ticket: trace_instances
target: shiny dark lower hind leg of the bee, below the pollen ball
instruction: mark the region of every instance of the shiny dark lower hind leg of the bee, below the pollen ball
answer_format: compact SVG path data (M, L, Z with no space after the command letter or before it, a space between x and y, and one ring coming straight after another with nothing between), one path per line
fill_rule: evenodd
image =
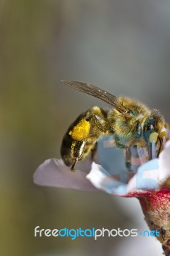
M86 146L86 140L81 141L74 141L72 143L72 167L70 168L71 172L75 172L75 164L79 161L79 159L82 157L82 153L84 152L84 148Z

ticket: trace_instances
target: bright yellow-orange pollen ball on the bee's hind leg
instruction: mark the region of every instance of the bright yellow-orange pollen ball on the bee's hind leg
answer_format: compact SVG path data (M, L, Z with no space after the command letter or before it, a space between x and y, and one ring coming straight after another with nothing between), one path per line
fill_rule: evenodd
M86 138L89 134L89 122L86 120L82 120L73 127L72 131L69 132L69 135L72 136L73 140L81 141Z

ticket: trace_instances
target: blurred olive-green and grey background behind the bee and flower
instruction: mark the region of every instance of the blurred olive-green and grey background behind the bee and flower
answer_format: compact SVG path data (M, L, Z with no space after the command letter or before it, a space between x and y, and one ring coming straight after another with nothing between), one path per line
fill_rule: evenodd
M0 1L0 254L161 255L156 239L34 237L34 228L141 228L135 198L43 188L33 173L59 156L68 125L107 106L61 84L85 81L169 117L170 3Z

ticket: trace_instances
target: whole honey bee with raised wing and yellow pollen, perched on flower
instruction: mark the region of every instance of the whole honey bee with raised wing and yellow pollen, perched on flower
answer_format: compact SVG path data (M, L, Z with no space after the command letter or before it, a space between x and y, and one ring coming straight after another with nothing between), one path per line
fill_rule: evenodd
M93 84L78 81L61 81L75 90L87 93L107 102L112 109L93 106L86 109L70 125L61 145L61 157L66 166L75 172L75 164L87 156L93 157L100 136L114 136L116 147L125 150L125 165L131 167L132 145L124 141L139 141L143 138L149 148L157 146L157 157L162 148L164 118L157 109L149 109L143 103L128 97L116 97Z

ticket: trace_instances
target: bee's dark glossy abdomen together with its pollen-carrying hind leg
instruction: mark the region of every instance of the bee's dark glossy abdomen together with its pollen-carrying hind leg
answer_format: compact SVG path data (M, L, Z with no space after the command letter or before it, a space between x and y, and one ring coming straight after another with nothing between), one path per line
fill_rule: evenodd
M108 110L95 106L70 125L61 145L61 157L67 166L74 166L80 159L93 155L98 137L105 131L107 113Z

